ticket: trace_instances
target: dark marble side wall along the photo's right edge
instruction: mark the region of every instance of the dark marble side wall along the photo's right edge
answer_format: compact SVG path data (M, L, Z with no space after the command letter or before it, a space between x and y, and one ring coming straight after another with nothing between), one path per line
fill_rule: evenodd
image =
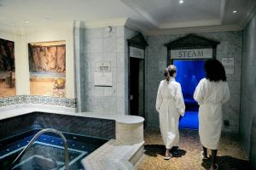
M253 157L256 168L256 15L244 29L242 42L240 135L247 156Z

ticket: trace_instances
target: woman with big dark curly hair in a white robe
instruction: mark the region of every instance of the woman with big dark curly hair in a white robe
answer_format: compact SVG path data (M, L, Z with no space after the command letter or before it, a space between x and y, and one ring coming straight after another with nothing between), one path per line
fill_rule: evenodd
M224 66L217 59L209 59L205 64L206 78L195 88L194 99L199 106L199 136L207 159L207 149L212 150L211 169L218 169L216 156L222 129L222 105L230 99L230 88L226 82Z

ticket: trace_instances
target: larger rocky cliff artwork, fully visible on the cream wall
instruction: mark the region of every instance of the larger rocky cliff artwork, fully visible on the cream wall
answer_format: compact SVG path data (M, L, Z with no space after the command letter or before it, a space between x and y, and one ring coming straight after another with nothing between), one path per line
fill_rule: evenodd
M28 43L30 94L66 97L66 42Z

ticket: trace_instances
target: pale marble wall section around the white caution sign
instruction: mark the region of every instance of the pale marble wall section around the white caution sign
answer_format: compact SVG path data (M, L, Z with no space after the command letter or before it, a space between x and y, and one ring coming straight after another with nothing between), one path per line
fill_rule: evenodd
M125 113L125 27L75 28L79 111ZM96 61L110 61L112 87L94 83Z

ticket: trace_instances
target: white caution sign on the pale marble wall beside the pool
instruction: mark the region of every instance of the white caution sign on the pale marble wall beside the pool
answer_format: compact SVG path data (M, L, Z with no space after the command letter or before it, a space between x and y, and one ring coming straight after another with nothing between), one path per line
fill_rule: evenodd
M96 61L95 86L112 86L111 61Z

